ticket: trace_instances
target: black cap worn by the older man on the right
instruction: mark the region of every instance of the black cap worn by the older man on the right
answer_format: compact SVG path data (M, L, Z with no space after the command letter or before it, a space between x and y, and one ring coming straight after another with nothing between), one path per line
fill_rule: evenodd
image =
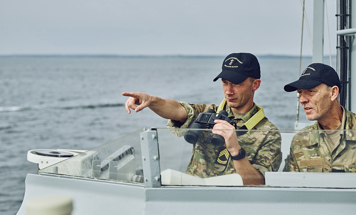
M339 76L333 67L321 63L314 63L310 64L304 70L298 81L284 86L284 90L292 92L297 90L297 88L310 89L322 83L331 87L337 86L339 87L339 90L341 89Z

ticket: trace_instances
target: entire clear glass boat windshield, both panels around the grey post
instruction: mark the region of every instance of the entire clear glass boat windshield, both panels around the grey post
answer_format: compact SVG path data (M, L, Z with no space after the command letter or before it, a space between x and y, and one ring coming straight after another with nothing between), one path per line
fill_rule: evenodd
M142 141L142 132L140 129L41 169L39 173L145 184L145 178L152 177L146 174L151 171L150 168L156 167L142 165L145 162L142 160L148 156L145 155L145 158L145 153L141 151L146 150L147 144ZM152 156L159 161L160 175L156 178L161 179L161 186L246 184L236 173L224 138L213 134L211 129L155 128L150 132L157 135L151 140L155 144L150 144L150 147L156 147L159 153ZM356 130L221 132L237 133L237 141L245 149L247 159L265 177L265 186L356 187ZM293 153L287 158L291 146ZM290 172L283 172L283 169Z

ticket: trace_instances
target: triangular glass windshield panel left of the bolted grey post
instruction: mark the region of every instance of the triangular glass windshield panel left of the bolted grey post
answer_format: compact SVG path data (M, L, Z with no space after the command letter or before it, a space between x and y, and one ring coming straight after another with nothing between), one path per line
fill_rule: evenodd
M143 129L39 170L43 173L143 183Z

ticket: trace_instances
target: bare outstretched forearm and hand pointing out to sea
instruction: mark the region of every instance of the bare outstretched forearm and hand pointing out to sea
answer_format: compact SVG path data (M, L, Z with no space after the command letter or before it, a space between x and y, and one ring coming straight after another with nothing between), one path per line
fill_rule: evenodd
M182 123L187 120L187 111L176 100L162 99L141 92L124 92L122 95L129 97L125 103L126 111L129 114L131 113L130 108L138 112L148 107L163 118L180 121Z

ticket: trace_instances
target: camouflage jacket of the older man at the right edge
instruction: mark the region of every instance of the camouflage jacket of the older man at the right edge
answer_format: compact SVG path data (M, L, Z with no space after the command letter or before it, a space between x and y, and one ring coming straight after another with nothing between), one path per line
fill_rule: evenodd
M345 111L345 131L332 153L325 144L325 133L318 132L318 122L315 122L293 137L283 171L356 172L356 118L351 111Z

